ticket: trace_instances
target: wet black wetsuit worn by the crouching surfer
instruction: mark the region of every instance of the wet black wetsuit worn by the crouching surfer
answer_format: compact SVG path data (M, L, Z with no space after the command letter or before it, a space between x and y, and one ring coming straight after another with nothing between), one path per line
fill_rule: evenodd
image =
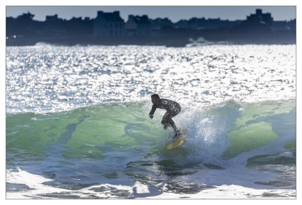
M173 129L175 130L175 133L178 132L178 129L174 123L174 121L172 120L172 117L175 117L181 110L180 105L173 101L173 100L168 100L168 99L164 99L161 98L159 104L157 105L152 105L152 109L149 113L149 115L153 115L156 108L160 108L160 109L165 109L167 112L164 114L163 119L162 119L162 124L168 123L170 124Z

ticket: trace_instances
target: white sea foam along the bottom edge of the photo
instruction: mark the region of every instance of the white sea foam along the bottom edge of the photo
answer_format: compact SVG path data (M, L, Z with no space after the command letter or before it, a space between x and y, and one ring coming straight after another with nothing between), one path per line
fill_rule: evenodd
M9 183L18 183L25 184L29 186L30 189L27 191L19 191L19 192L7 192L8 199L14 198L56 198L54 194L51 196L47 196L47 194L58 193L58 197L60 193L64 193L65 195L69 195L70 198L73 196L80 196L81 198L91 198L91 197L101 197L101 198L114 198L116 197L110 191L96 192L93 188L98 187L114 187L117 190L126 190L129 191L130 194L133 194L133 189L136 188L136 193L138 194L147 194L150 193L148 186L145 184L141 184L139 182L135 182L133 186L125 186L125 185L114 185L114 184L99 184L94 186L89 186L80 190L67 190L62 188L51 187L42 184L46 181L51 181L52 179L47 179L45 177L30 174L26 171L18 169L17 172L12 170L7 170L7 182ZM166 184L165 184L166 185ZM164 185L164 187L165 187ZM164 188L163 188L164 189ZM254 189L248 188L239 185L220 185L212 189L202 190L196 194L177 194L170 192L163 192L158 195L153 196L145 196L144 198L295 198L296 191L293 189ZM139 197L137 197L139 198Z

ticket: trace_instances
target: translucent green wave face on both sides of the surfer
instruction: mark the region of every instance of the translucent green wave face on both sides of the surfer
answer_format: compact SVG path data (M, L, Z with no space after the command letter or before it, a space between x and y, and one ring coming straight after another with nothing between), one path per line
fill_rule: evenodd
M228 148L222 157L230 159L240 153L268 145L280 135L294 135L294 140L282 145L292 148L295 143L295 101L262 102L237 104L227 102L224 109L209 107L202 110L204 116L222 120L227 110L239 110L234 121L225 127ZM142 149L149 155L164 153L163 139L169 136L160 124L162 112L157 111L154 119L148 117L149 107L145 103L103 104L83 107L69 112L50 114L13 114L7 116L7 152L27 153L32 159L44 157L51 145L64 149L65 159L96 158L102 159L107 151L119 149ZM232 111L233 112L233 111ZM182 116L182 117L181 117ZM180 114L179 123L194 127L199 119ZM177 117L176 117L177 118ZM197 122L196 122L197 121ZM193 124L193 125L192 125ZM189 146L195 146L194 138L204 136L190 132L187 146L180 148L179 154L187 155ZM218 139L219 140L219 139ZM203 148L203 144L199 144Z

